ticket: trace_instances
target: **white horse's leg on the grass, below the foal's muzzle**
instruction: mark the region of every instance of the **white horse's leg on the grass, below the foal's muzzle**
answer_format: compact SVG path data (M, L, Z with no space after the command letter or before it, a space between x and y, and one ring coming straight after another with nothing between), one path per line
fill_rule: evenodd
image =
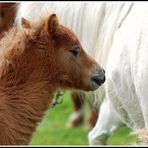
M89 144L106 144L107 138L122 125L123 122L119 119L110 100L106 97L100 108L98 121L88 134Z

